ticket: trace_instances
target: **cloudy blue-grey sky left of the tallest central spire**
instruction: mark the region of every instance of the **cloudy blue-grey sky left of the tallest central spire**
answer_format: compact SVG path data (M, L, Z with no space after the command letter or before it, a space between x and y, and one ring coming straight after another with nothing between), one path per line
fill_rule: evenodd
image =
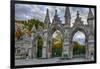
M27 5L27 4L15 5L15 18L16 20L27 20L27 19L35 18L35 19L39 19L40 21L44 21L47 8L49 9L51 21L54 17L55 9L58 10L58 15L61 18L61 20L64 19L63 18L64 7L46 6L46 5Z

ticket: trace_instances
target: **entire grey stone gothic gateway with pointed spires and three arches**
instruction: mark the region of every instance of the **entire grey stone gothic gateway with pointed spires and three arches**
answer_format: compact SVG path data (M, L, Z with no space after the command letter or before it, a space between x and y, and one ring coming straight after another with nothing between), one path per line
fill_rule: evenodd
M60 17L57 14L57 10L55 10L55 15L54 15L54 18L53 18L52 23L51 23L50 17L49 17L49 9L47 9L44 23L46 23L48 25L48 28L42 29L41 31L36 31L36 29L34 27L32 28L32 29L34 29L34 31L33 31L34 36L32 36L32 38L33 38L33 42L32 42L33 48L36 49L36 44L35 44L36 39L35 38L37 36L41 36L44 40L44 46L43 46L43 52L44 53L43 53L42 58L51 58L51 46L52 46L51 37L52 37L52 34L56 30L59 30L63 35L63 39L62 39L62 42L63 42L62 43L62 49L63 49L63 51L62 51L61 57L63 57L63 54L66 53L66 54L68 54L69 58L73 58L72 38L77 31L81 31L86 36L86 58L90 58L89 41L94 40L94 39L90 39L90 37L89 37L89 36L94 37L94 35L91 34L91 33L94 33L92 31L93 30L92 29L93 23L94 23L93 22L94 16L92 14L91 9L89 9L89 13L88 13L88 17L87 17L88 25L83 24L83 21L82 21L82 18L80 17L79 11L77 11L75 22L74 22L73 26L71 27L70 26L71 14L70 14L70 8L69 7L66 7L64 17L65 17L65 24L62 24ZM66 49L66 50L64 50L64 49ZM34 54L32 53L33 57L36 54L35 51L36 50L34 50Z

